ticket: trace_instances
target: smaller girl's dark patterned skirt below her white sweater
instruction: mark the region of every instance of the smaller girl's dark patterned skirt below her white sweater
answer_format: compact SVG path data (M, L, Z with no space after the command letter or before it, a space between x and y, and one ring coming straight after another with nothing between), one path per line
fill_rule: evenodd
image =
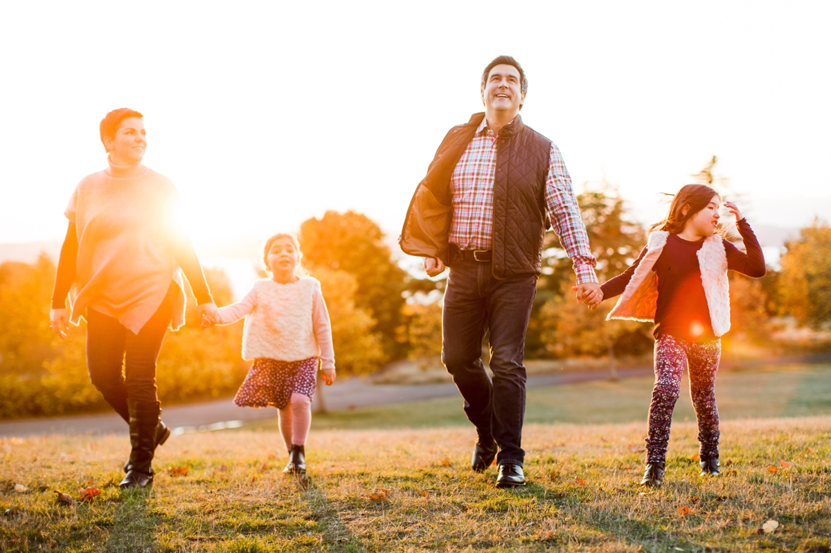
M317 357L302 361L255 359L234 404L238 407L276 407L286 409L292 394L314 395Z

